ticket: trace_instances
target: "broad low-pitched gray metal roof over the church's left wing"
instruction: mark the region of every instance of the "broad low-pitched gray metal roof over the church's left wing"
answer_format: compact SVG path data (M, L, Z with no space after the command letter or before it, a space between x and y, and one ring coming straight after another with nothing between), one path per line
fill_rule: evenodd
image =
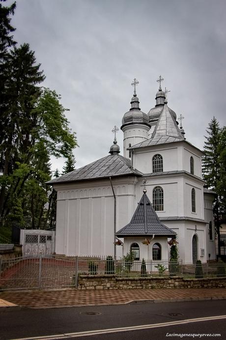
M119 154L112 154L101 158L93 163L80 169L71 171L60 177L54 178L47 184L65 183L81 181L87 179L97 179L110 176L137 175L141 176L142 172L131 169L131 161Z

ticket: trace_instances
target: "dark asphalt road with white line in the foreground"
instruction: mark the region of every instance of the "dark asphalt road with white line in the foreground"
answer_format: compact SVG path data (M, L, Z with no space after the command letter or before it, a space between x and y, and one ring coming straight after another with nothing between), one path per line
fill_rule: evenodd
M226 315L225 300L48 309L1 308L0 339L42 337L43 340L48 339L49 336L52 336L53 340L182 339L175 335L170 336L173 333L221 334L221 337L183 336L183 339L226 339L226 318L209 318L191 322L191 319L220 315ZM181 322L183 324L180 324ZM136 328L139 326L140 329ZM129 329L121 329L123 327ZM106 329L110 331L97 333L97 330ZM78 334L87 331L90 333L85 333L83 336Z

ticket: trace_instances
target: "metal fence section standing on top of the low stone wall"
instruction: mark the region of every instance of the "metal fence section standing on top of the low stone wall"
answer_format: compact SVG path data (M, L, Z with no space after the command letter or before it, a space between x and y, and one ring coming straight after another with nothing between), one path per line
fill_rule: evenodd
M184 263L179 261L114 261L112 257L78 258L79 274L116 274L117 277L183 276L185 278L224 277L226 263Z

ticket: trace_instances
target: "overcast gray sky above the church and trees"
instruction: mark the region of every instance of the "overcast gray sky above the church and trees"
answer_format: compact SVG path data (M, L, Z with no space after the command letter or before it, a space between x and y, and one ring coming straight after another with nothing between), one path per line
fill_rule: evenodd
M12 25L17 42L35 51L43 86L70 109L77 169L108 155L134 78L147 113L162 75L168 105L198 148L213 116L226 125L225 0L17 0ZM123 155L121 130L117 140ZM63 164L52 159L53 170Z

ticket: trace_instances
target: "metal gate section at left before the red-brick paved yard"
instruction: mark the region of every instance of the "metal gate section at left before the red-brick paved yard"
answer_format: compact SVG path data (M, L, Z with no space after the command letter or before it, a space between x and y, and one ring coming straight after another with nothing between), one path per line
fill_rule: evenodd
M76 264L42 254L0 259L0 290L76 286Z

